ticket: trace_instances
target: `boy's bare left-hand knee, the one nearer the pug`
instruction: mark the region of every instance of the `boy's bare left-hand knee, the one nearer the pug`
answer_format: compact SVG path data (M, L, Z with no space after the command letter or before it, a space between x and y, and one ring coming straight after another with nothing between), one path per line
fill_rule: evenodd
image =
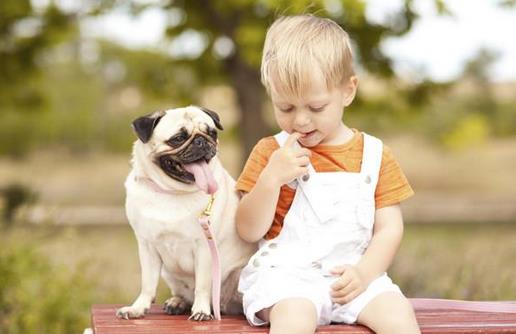
M317 310L308 299L292 298L274 305L270 312L271 333L314 333Z

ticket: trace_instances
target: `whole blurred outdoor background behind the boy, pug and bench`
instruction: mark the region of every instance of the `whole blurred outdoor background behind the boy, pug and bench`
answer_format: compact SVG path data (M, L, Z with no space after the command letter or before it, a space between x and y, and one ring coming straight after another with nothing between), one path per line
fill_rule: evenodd
M329 17L354 41L347 125L416 196L391 275L409 297L516 299L516 1L0 1L0 333L72 333L139 292L125 218L131 121L197 104L236 178L275 133L266 27ZM158 302L168 296L160 285Z

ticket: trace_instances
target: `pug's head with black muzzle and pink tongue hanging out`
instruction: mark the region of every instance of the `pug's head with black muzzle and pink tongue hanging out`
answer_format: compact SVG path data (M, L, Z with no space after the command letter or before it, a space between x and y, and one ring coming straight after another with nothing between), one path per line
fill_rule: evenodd
M217 190L208 167L217 154L217 130L223 129L217 113L196 106L157 111L137 118L133 129L168 177L206 193Z

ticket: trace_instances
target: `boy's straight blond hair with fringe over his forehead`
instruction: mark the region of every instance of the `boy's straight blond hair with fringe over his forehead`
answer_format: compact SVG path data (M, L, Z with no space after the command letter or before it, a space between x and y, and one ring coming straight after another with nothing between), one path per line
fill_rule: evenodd
M349 44L348 34L330 19L313 15L280 17L265 37L262 83L269 94L274 88L300 96L313 82L314 71L319 71L327 87L334 88L354 75Z

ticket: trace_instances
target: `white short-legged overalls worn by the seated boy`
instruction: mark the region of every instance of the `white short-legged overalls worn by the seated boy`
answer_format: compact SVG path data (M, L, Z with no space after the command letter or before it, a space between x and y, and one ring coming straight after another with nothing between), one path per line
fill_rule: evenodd
M287 137L281 132L275 139L283 146ZM293 297L308 298L315 304L318 325L351 324L380 293L400 292L384 273L348 304L333 303L330 297L330 285L338 277L329 271L338 265L357 264L371 240L382 149L379 139L364 133L359 173L316 173L310 165L310 178L297 179L280 234L260 241L258 252L240 276L238 290L251 324L265 324L256 316L258 311Z

